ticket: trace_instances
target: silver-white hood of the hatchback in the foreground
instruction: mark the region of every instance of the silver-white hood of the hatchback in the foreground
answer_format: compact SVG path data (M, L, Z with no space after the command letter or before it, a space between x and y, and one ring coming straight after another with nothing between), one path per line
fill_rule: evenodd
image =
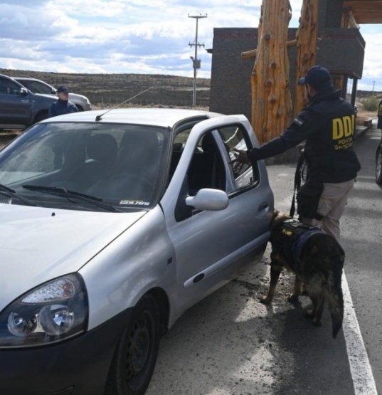
M79 270L145 213L0 204L0 311L31 288Z

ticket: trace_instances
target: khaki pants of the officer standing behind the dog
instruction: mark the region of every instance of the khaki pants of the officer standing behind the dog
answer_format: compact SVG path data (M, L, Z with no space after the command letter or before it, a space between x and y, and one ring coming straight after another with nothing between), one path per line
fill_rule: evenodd
M302 218L307 225L316 226L324 232L334 236L337 241L340 238L339 218L344 213L348 201L349 192L354 186L354 179L339 184L324 183L324 190L319 199L317 213L324 218L321 221L314 218Z

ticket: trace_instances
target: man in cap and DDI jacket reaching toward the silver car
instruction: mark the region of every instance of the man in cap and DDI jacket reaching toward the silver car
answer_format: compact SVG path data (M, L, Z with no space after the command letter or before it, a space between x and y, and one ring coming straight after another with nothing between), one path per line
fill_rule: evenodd
M339 219L361 169L353 147L354 107L341 98L341 91L331 83L329 71L320 65L310 68L298 83L304 85L309 99L307 106L280 137L262 144L260 148L238 151L237 159L255 163L306 140L304 160L308 179L301 192L308 184L319 185L322 192L317 197L315 213L309 215L299 211L298 192L297 212L304 223L322 228L339 240Z

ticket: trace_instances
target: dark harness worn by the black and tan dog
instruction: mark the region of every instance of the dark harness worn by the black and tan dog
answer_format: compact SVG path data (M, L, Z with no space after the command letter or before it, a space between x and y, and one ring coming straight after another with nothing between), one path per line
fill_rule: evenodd
M322 233L322 231L314 226L299 222L297 219L291 218L282 221L280 250L292 269L295 269L294 266L302 246L314 233Z

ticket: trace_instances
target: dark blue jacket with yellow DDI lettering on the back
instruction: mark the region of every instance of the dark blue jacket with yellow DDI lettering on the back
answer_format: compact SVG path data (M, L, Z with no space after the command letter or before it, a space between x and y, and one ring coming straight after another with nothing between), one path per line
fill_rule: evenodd
M361 164L354 151L354 107L331 88L314 95L285 132L248 152L251 162L285 152L305 142L312 181L340 183L355 179Z

